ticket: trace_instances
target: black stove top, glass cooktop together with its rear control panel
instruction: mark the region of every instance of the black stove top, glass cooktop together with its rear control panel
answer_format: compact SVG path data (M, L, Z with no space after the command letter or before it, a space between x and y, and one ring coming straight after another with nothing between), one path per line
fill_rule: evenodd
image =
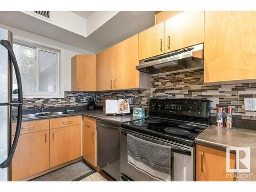
M151 99L149 117L121 127L176 143L194 146L195 137L209 125L209 100Z

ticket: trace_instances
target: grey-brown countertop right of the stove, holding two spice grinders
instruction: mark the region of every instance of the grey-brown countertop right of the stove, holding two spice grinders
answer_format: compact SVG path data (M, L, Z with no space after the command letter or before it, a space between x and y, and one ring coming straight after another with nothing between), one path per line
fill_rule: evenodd
M235 181L255 181L256 180L256 130L237 129L222 130L213 126L207 127L195 139L196 144L217 148L226 151L226 147L250 147L250 173L248 177L238 176ZM239 153L240 158L244 158L244 153ZM245 173L246 174L246 173Z

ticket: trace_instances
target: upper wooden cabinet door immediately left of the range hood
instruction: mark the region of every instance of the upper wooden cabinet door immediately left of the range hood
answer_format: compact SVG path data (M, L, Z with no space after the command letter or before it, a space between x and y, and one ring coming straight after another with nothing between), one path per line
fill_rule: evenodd
M139 88L139 35L114 46L114 89Z

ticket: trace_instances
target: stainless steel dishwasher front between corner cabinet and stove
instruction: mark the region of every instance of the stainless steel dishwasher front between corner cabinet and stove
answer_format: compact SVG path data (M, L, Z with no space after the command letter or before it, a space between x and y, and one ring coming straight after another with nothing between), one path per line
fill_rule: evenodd
M97 164L120 181L120 124L97 120Z

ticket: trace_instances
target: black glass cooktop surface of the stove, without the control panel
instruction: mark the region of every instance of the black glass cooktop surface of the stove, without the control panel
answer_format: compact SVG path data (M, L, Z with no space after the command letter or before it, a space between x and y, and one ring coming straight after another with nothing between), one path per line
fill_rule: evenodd
M148 117L123 123L122 127L131 131L139 131L158 138L193 146L195 137L203 131L207 125Z

